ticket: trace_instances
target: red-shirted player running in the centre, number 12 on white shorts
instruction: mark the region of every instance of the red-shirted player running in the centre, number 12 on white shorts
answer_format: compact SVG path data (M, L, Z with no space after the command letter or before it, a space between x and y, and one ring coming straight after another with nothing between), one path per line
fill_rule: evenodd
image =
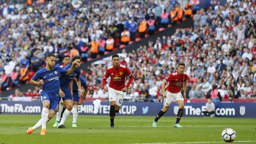
M107 68L103 77L104 91L108 91L108 98L110 101L110 127L114 128L114 117L119 113L121 104L123 102L124 93L127 92L129 85L133 81L133 75L130 70L120 65L119 55L112 56L112 66ZM110 76L109 88L106 86L106 80ZM126 76L129 77L128 83L125 85Z

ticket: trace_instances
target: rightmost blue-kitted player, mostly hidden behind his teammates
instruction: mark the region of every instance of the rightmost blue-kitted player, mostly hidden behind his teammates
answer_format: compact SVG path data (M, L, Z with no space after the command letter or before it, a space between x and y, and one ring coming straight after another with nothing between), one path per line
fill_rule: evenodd
M85 97L87 95L88 92L88 85L87 82L85 81L84 76L80 75L79 76L80 81L81 81L81 86L84 88L84 92L80 94L80 92L78 91L78 85L76 84L77 79L73 79L73 89L71 89L71 91L73 92L73 109L72 109L72 113L73 113L73 121L72 121L72 127L77 127L76 126L76 120L78 117L78 105L81 105L84 100ZM81 97L82 95L82 97Z

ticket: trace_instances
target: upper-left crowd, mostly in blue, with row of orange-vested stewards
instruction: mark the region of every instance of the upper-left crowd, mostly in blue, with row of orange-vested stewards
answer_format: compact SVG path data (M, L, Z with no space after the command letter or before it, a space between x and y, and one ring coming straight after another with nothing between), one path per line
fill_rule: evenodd
M17 2L2 1L0 9L1 90L27 83L45 65L48 53L57 55L58 64L65 55L80 55L86 62L145 37L147 29L153 34L170 23L166 16L177 4L176 0Z

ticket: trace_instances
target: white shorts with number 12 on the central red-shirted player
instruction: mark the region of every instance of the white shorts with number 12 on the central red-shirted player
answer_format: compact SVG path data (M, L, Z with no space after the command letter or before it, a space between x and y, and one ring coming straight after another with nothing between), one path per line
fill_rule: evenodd
M116 105L121 106L123 103L123 96L124 96L123 91L118 91L116 89L108 87L108 100L109 101L116 101Z

